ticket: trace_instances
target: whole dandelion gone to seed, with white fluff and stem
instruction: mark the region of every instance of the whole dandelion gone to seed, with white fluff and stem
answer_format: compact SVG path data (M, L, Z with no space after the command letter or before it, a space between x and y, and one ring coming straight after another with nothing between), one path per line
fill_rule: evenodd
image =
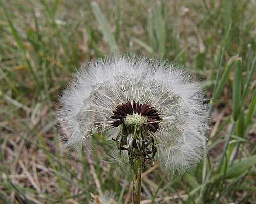
M173 64L134 56L98 60L77 73L60 100L66 145L90 150L96 132L111 140L115 160L133 170L132 203L140 203L143 167L158 161L163 171L181 174L203 157L205 99L200 84Z

